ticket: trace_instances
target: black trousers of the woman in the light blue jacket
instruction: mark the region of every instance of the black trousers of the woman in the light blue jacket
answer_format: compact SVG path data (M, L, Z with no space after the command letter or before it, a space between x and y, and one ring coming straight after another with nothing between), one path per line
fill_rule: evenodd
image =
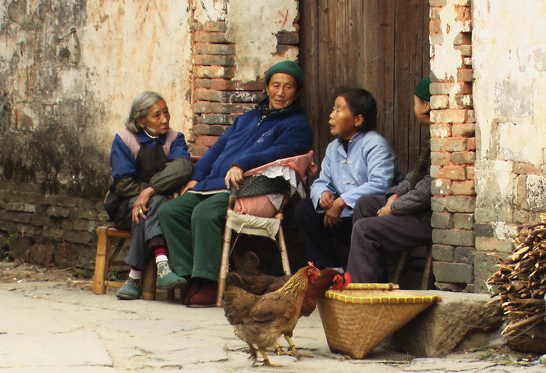
M344 255L336 251L333 239L350 244L350 230L353 218L344 217L339 226L324 226L324 213L317 213L310 198L304 198L295 206L297 226L304 242L307 259L317 267L347 266Z

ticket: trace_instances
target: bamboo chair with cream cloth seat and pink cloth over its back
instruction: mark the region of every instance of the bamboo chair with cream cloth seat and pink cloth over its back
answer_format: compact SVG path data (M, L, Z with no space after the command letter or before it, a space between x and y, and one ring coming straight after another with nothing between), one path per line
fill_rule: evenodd
M291 173L291 185L295 182L300 182L300 194L304 193L302 184L306 181L306 175L312 175L315 173L317 167L313 162L313 151L291 158L284 158L277 160L269 164L265 164L262 167L253 169L244 173L244 176L255 175L263 173L265 170L271 170L271 167L288 167L288 172ZM287 171L287 169L284 169ZM284 173L286 175L286 172ZM286 176L288 177L288 176ZM297 181L295 181L297 179ZM259 209L261 215L253 215L252 208L249 211L245 211L244 204L240 199L230 196L228 202L228 209L226 215L226 225L224 228L224 243L222 245L222 262L220 264L220 273L218 273L218 296L216 298L216 306L222 306L222 295L226 287L227 273L229 272L229 257L235 248L235 242L231 244L232 231L236 231L238 235L240 233L249 235L261 235L263 237L269 237L277 244L280 251L282 269L285 275L291 275L290 263L288 262L288 251L286 250L286 242L284 241L284 233L282 230L283 210L291 195L295 193L295 189L289 189L282 197L282 202L278 209L271 213L270 217L264 216L267 212L266 209ZM255 196L256 198L264 198L263 195ZM251 198L252 199L252 198ZM238 237L238 236L237 236Z

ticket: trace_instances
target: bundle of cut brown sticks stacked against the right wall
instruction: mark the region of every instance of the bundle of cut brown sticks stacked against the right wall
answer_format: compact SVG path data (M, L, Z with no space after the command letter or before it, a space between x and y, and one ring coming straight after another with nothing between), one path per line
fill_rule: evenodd
M507 258L490 254L498 259L498 270L487 279L496 289L490 304L501 302L502 334L510 338L525 334L545 319L546 213L540 214L540 224L520 231L514 246Z

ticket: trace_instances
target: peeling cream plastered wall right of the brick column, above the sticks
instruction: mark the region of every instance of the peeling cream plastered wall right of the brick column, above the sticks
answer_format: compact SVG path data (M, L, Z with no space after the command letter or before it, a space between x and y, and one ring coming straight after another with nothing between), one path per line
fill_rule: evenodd
M546 3L473 0L476 277L546 211ZM477 290L485 290L483 281Z

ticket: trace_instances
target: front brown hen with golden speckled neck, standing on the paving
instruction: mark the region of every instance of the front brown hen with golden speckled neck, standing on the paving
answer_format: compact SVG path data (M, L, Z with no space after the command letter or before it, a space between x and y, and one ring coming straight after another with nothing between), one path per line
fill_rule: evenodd
M249 345L251 359L271 366L266 348L281 334L292 332L300 318L304 294L317 279L319 270L310 264L295 273L279 290L254 295L238 286L228 286L224 292L224 313L235 328L235 335ZM256 348L255 348L256 347Z

